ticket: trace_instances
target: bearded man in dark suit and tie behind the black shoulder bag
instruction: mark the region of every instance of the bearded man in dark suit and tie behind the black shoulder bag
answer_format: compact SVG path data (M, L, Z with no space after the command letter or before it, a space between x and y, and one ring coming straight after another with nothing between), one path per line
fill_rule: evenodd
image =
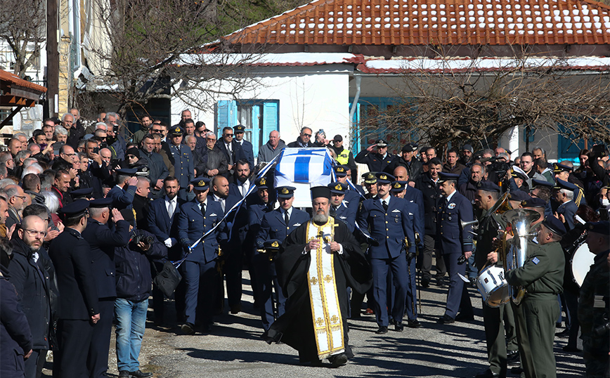
M163 189L165 196L150 202L150 207L148 208L148 230L167 247L169 259L177 260L182 251L177 239L177 219L180 207L185 201L178 197L180 185L176 177L167 176L163 183ZM152 267L153 271L155 268L157 272L162 270L164 261L156 260L152 263L155 264ZM183 281L181 281L179 287L176 287L176 313L178 313L178 318L183 317L184 311L184 293L180 291L183 288L182 286ZM154 285L152 287L152 309L155 312L155 323L157 324L161 324L163 321L163 298L163 292Z

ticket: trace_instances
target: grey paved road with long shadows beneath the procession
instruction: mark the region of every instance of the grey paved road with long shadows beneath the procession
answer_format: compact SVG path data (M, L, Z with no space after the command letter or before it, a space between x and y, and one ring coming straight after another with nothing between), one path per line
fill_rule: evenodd
M247 278L244 282L248 283ZM155 372L155 377L474 377L487 367L481 301L474 289L473 322L437 325L446 289L434 285L422 290L420 321L424 327L418 330L405 328L399 333L391 329L377 335L373 316L349 320L349 339L356 357L338 369L330 369L330 365L302 367L290 346L262 341L249 286L244 290L245 312L218 316L213 334L185 336L178 329L148 323L142 370ZM558 376L583 375L582 356L564 353L561 348L565 343L566 339L555 339ZM114 359L110 365L109 372L116 374Z

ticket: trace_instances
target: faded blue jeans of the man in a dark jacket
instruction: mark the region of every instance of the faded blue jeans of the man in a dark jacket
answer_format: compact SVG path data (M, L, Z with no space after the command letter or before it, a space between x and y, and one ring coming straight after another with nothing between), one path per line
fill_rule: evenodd
M138 356L142 346L142 337L146 327L148 299L132 302L127 299L115 300L115 318L117 318L117 367L119 371L135 372L139 370Z

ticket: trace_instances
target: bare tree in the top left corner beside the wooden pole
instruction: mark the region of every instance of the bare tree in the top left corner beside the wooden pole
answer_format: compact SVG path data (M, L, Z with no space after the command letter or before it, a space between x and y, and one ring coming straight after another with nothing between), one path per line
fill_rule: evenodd
M13 73L25 77L25 71L40 57L45 40L45 2L43 0L0 1L0 39L11 47L15 57Z

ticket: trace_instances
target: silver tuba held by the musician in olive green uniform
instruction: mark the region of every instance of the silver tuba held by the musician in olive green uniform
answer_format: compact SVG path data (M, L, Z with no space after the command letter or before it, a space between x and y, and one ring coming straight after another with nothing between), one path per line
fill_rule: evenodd
M512 224L513 238L508 246L508 250L504 249L501 252L504 256L504 269L510 271L512 269L521 268L527 258L527 244L531 237L535 234L531 233L531 223L537 221L540 214L537 211L530 209L513 209L502 214L502 219ZM509 286L510 297L514 304L520 304L525 295L524 287Z

